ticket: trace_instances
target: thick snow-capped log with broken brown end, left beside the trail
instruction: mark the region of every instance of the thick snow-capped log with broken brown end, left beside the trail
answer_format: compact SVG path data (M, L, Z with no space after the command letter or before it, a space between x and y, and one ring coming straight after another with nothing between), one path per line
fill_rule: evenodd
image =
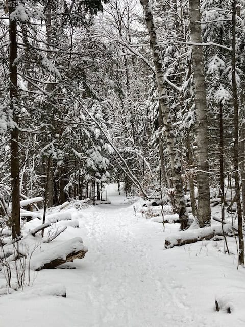
M51 269L74 259L82 259L88 249L80 237L73 238L45 251L33 254L30 268L33 270Z

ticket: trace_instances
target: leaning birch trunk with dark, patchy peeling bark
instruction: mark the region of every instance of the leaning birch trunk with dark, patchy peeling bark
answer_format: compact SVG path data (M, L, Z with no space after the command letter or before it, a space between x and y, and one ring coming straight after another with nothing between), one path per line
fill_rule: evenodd
M180 157L175 144L175 135L174 135L171 115L169 111L166 85L164 82L162 63L160 58L161 51L158 45L158 39L156 35L156 27L153 19L151 3L149 0L140 0L140 3L144 9L145 21L148 28L149 39L150 39L150 46L153 53L153 61L155 66L155 73L156 73L157 86L159 92L159 116L162 115L167 149L170 157L171 173L172 173L172 179L175 188L176 212L180 216L181 229L186 229L188 226L188 214L186 211L186 205L185 205L184 193L183 193L183 183L181 178L181 164L180 164ZM161 143L162 140L159 139L159 142Z

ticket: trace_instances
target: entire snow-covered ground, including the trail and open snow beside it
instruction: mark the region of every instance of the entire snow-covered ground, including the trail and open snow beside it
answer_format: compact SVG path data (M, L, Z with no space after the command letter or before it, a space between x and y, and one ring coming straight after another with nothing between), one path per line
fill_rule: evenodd
M53 241L82 237L85 259L33 272L32 288L1 296L0 326L245 325L245 270L236 269L236 255L224 254L224 241L165 249L164 235L178 224L164 231L146 220L139 202L128 203L115 185L107 198L111 204L79 211L79 228L68 227ZM63 285L67 297L54 296L52 289Z

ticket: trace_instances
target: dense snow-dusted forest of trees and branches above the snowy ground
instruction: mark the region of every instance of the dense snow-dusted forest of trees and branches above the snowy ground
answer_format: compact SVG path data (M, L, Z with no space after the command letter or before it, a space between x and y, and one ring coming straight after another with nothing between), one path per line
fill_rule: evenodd
M181 229L238 218L244 171L244 1L1 2L1 223L20 198L101 199L103 183L170 202ZM150 40L150 42L149 42ZM11 203L11 206L10 206ZM23 215L22 215L23 216Z

